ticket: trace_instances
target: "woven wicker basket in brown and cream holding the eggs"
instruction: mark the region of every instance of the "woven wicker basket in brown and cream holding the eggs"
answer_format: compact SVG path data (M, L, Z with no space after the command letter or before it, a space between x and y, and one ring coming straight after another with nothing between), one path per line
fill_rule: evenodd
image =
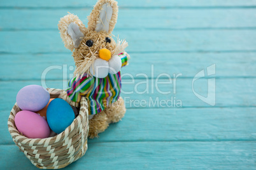
M62 89L48 89L51 98L58 98ZM80 112L65 131L52 138L30 139L22 136L15 126L14 117L20 111L17 103L11 110L8 129L15 144L40 169L59 169L80 159L87 151L89 132L87 101L80 101Z

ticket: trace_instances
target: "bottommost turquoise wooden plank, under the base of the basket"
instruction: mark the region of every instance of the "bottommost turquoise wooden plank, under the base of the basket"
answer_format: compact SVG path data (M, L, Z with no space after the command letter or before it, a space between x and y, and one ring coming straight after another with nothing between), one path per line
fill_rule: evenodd
M90 143L66 169L255 169L252 142ZM15 145L1 145L4 169L36 169Z

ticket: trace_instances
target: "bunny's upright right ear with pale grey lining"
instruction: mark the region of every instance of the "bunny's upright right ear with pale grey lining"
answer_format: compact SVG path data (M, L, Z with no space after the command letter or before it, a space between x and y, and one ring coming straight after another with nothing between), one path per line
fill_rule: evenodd
M117 1L99 0L88 16L88 29L97 32L106 31L111 34L117 23L117 13Z

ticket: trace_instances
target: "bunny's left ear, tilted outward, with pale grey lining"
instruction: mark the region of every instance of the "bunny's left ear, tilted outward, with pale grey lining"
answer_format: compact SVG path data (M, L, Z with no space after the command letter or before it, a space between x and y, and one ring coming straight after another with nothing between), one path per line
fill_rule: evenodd
M78 48L84 34L87 32L87 28L83 25L82 21L73 14L60 18L58 27L65 47L71 51L74 48Z

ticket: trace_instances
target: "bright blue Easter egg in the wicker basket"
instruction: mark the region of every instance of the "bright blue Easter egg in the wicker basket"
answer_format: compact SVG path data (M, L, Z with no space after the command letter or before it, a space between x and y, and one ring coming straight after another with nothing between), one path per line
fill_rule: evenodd
M48 105L46 117L52 131L59 134L71 125L75 114L67 101L55 98Z

